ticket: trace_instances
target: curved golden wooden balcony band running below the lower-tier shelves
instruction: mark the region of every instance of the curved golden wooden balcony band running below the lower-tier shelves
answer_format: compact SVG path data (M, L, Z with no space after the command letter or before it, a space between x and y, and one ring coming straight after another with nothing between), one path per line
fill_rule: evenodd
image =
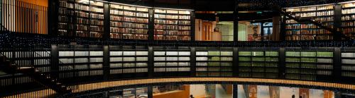
M143 85L151 83L166 83L166 82L256 82L256 83L276 83L280 85L303 85L303 86L318 86L332 87L346 90L355 90L355 85L347 85L331 82L311 82L302 80L278 80L278 79L257 79L257 78L155 78L155 79L140 79L140 80L117 80L108 82L94 82L83 85L76 85L73 93L84 92L87 90L98 90L107 87L120 87L125 85ZM53 90L38 90L35 92L27 92L23 94L15 94L11 97L48 97L55 94Z

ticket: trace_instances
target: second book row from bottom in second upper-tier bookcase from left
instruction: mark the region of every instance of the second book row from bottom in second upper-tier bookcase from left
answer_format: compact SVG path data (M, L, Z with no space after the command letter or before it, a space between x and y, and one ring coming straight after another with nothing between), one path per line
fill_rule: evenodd
M148 34L147 29L134 29L134 28L122 28L122 27L110 27L110 32L119 32L127 34Z

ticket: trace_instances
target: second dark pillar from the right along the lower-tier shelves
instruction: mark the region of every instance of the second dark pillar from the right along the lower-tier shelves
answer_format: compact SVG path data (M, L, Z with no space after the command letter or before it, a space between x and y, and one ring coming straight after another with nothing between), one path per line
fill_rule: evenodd
M279 79L284 79L285 78L285 48L280 47L278 50L278 78Z

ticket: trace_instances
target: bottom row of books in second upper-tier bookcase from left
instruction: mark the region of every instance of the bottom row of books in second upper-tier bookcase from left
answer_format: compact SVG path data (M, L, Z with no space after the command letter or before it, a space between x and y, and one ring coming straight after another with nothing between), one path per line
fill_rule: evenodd
M110 33L113 39L148 39L148 35Z

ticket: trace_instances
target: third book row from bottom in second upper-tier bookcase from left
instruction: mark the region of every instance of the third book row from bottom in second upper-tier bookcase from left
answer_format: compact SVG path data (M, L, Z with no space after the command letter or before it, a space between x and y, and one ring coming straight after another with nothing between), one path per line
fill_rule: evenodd
M141 24L141 23L110 22L110 25L114 27L131 27L131 28L148 29L147 24Z

